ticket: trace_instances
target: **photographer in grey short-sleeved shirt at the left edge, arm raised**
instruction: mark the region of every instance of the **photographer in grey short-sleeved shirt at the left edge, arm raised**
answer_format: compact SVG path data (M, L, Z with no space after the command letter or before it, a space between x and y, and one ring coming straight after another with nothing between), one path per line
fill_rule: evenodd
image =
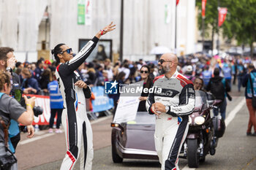
M31 125L34 119L35 97L28 99L24 96L26 102L26 109L24 109L15 98L9 96L11 87L10 75L0 71L0 119L4 121L4 125L0 124L0 162L3 160L4 155L12 155L6 148L5 138L7 136L4 134L4 130L10 125L10 120L16 120L23 125ZM30 128L28 130L28 137L31 138L34 136L34 131L31 131ZM18 169L17 163L13 163L10 169Z

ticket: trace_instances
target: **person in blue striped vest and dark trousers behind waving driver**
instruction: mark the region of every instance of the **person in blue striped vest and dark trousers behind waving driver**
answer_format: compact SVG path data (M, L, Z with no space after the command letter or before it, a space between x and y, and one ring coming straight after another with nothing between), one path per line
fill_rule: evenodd
M46 69L47 70L47 69ZM55 77L55 76L54 76ZM53 80L52 74L50 74L50 80ZM57 122L55 133L61 133L59 126L61 125L61 114L63 110L63 98L59 90L59 84L56 78L48 84L48 92L50 93L50 123L49 123L49 133L53 133L53 123L54 117L57 113Z

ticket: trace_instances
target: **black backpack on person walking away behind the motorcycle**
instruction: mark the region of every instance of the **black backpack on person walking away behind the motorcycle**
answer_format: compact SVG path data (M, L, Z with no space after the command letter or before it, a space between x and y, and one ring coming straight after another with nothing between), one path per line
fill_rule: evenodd
M213 82L211 81L211 93L216 99L224 101L225 99L225 87L222 81Z

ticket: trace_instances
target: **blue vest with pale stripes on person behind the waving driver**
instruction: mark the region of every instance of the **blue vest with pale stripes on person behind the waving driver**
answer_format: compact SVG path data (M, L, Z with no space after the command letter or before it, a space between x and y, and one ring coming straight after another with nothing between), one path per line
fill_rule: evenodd
M48 91L50 93L50 109L63 109L63 98L57 80L48 84Z

